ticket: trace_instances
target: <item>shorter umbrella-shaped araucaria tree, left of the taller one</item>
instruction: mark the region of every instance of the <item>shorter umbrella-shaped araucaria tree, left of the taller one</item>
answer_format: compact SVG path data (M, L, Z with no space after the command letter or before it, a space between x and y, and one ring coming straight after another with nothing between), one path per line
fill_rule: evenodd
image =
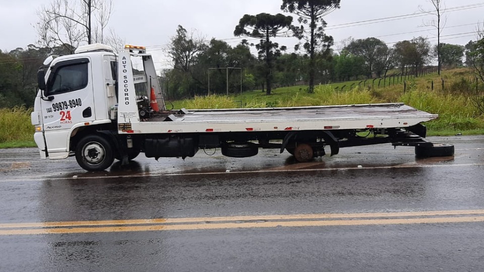
M281 50L285 49L285 46L279 49L279 44L272 42L271 37L277 37L278 33L283 29L290 29L291 24L291 16L267 13L255 16L246 14L240 19L233 31L234 36L260 38L260 43L256 45L256 48L259 51L259 59L264 61L264 66L261 66L261 72L266 80L267 95L270 95L272 91L274 60L280 55Z

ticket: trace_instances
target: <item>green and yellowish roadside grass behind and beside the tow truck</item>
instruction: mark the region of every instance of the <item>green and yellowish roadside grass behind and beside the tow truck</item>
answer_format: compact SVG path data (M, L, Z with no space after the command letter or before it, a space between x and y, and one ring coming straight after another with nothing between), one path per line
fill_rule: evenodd
M484 134L484 114L472 104L467 90L469 86L462 84L469 78L469 70L457 69L445 71L441 77L431 74L409 80L405 90L397 80L391 86L388 86L387 80L386 87L383 87L382 81L380 88L377 88L378 80L375 81L375 88L369 88L371 80L366 85L352 81L318 85L313 94L307 92L308 86L292 86L274 88L269 96L261 90L255 90L242 95L196 97L172 103L175 109L220 109L403 102L419 110L439 114L439 119L425 123L429 135ZM344 90L341 91L343 86ZM25 107L0 109L0 125L4 128L0 130L0 148L35 146L30 112L31 109Z

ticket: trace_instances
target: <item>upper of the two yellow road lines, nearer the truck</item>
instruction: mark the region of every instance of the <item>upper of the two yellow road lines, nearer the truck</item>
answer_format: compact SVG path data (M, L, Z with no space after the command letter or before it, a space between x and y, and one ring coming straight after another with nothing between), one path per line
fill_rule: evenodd
M357 218L391 218L391 217L429 217L429 216L465 216L484 215L484 210L453 210L453 211L422 211L422 212L388 212L388 213L352 213L352 214L297 214L297 215L260 215L260 216L221 216L192 218L160 218L132 220L103 221L66 221L37 223L5 223L2 228L52 228L76 226L112 226L141 224L180 224L180 223L212 223L224 221L269 221L269 220L322 220L322 219L357 219Z

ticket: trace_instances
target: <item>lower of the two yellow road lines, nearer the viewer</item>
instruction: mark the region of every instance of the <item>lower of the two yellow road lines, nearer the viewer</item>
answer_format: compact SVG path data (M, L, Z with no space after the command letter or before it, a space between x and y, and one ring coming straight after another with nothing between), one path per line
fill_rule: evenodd
M362 226L362 225L403 225L403 224L443 224L484 222L484 216L476 217L438 217L438 218L395 218L395 219L360 219L331 221L282 221L250 223L217 223L217 224L181 224L154 226L118 226L96 228L58 228L58 229L14 229L0 230L1 235L38 235L66 233L107 233L107 232L140 232L140 231L181 231L181 230L214 230L246 229L277 227L324 227L324 226Z

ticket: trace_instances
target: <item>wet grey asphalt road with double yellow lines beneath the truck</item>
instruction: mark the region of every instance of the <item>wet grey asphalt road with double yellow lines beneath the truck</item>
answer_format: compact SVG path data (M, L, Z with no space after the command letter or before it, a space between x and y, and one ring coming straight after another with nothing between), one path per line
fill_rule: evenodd
M88 173L0 150L0 271L482 271L484 137L430 140L455 156L201 151Z

